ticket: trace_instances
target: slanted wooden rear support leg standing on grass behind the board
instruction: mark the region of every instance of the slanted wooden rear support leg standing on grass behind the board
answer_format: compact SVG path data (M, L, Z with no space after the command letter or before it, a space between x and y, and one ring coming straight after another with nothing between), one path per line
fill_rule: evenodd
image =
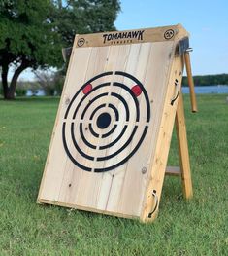
M184 119L183 98L181 92L179 94L179 103L176 114L176 131L179 143L179 165L182 179L183 195L186 199L190 199L193 196L193 192Z

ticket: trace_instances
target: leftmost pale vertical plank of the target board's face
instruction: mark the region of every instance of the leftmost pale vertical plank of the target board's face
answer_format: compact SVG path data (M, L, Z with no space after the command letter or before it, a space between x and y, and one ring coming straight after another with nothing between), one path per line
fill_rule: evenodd
M87 54L85 52L87 52ZM67 87L67 85L72 83L72 79L77 80L78 83L82 83L82 76L76 78L70 76L70 74L73 73L73 70L76 68L79 70L79 72L81 72L81 74L84 74L85 71L82 67L83 65L87 65L90 52L89 50L86 51L81 49L80 53L77 54L78 58L76 58L75 55L76 51L72 51L67 76L62 91L62 97L59 103L57 116L55 119L53 132L51 135L51 140L49 144L49 154L47 157L47 162L38 194L38 202L41 201L43 198L49 198L49 200L51 201L58 200L58 193L61 186L61 180L64 175L64 171L57 172L56 168L64 169L63 165L65 165L65 162L67 161L67 156L65 155L63 149L58 146L59 141L61 141L61 132L59 131L60 121L68 107L71 97L74 95L74 88ZM79 63L78 61L79 58L82 59L81 63ZM59 158L59 154L64 157L62 159Z

